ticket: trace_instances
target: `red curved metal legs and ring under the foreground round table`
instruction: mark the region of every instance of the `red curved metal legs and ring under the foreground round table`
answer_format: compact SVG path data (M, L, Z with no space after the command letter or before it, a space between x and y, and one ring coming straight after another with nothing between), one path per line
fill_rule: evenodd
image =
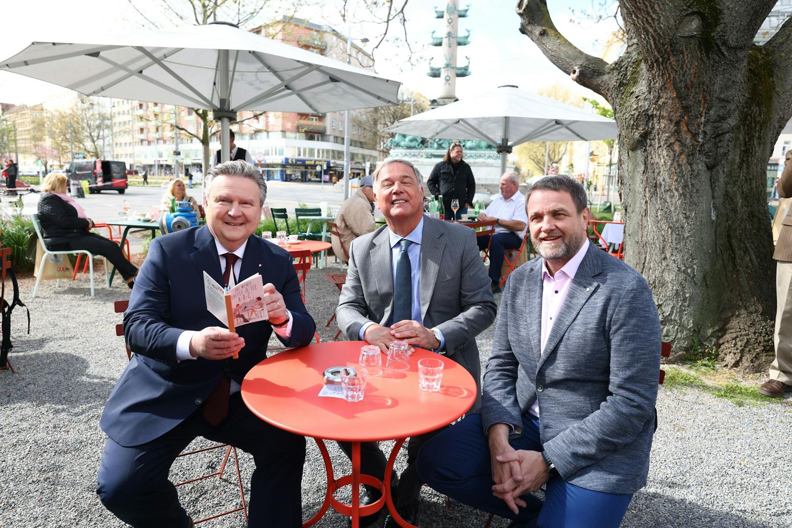
M393 495L390 491L390 476L393 474L396 455L398 454L398 450L402 448L402 444L405 442L405 440L406 438L400 438L397 440L393 450L390 451L390 457L388 457L388 463L385 468L385 481L383 482L383 480L379 480L378 478L375 478L371 475L360 474L360 442L352 442L352 474L336 479L333 475L333 461L330 460L330 455L327 452L325 442L321 438L314 438L314 441L316 441L316 445L319 448L319 452L322 453L322 459L325 461L325 470L327 473L327 492L325 494L325 500L322 502L322 507L319 508L319 511L316 513L316 515L306 522L303 522L303 528L314 526L314 524L319 522L319 519L324 517L327 509L330 506L332 506L333 510L337 511L341 515L348 515L348 517L351 517L352 528L359 528L360 516L375 514L377 511L381 510L383 506L387 506L388 511L390 511L390 515L394 518L394 521L399 526L402 526L402 528L417 528L417 526L409 524L404 519L402 519L400 515L398 515L396 507L394 506ZM340 488L350 484L352 485L352 504L341 503L341 501L336 499L333 494ZM379 491L383 493L383 496L381 496L375 502L361 507L360 484L367 484L369 486L379 488Z

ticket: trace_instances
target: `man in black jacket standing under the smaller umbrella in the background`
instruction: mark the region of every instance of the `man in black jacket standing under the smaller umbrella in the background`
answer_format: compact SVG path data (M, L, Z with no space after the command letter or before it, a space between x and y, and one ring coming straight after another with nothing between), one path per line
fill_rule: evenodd
M429 174L426 181L429 193L435 197L443 195L443 209L445 219L451 220L454 212L451 211L451 200L459 200L459 210L456 212L456 220L466 214L468 207L473 207L473 197L476 193L476 180L473 178L473 170L470 165L462 160L462 145L451 143L448 147L443 161L438 162Z

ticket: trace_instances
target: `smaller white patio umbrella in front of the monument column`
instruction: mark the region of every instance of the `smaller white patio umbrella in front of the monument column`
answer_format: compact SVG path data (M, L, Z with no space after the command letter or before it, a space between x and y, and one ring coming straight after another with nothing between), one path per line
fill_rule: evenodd
M387 130L427 138L486 141L501 154L501 174L506 171L506 156L520 143L612 140L618 134L612 119L513 85L407 117Z

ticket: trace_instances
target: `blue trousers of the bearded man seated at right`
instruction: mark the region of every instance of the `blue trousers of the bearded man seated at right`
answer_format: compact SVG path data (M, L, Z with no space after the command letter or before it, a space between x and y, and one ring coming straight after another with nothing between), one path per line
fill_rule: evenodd
M523 415L523 435L510 441L516 450L542 451L539 419ZM492 466L481 415L469 415L429 440L417 461L418 474L429 486L451 499L478 510L524 522L522 526L564 528L618 528L631 494L592 492L552 478L546 484L544 502L524 495L527 507L520 515L493 495Z

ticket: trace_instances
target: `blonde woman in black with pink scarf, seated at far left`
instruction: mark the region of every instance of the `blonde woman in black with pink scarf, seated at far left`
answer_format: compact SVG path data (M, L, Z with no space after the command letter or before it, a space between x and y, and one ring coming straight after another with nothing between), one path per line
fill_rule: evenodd
M124 258L118 244L90 232L93 220L67 195L66 182L65 174L51 172L41 186L39 221L44 244L51 251L86 250L107 258L131 289L138 269Z

